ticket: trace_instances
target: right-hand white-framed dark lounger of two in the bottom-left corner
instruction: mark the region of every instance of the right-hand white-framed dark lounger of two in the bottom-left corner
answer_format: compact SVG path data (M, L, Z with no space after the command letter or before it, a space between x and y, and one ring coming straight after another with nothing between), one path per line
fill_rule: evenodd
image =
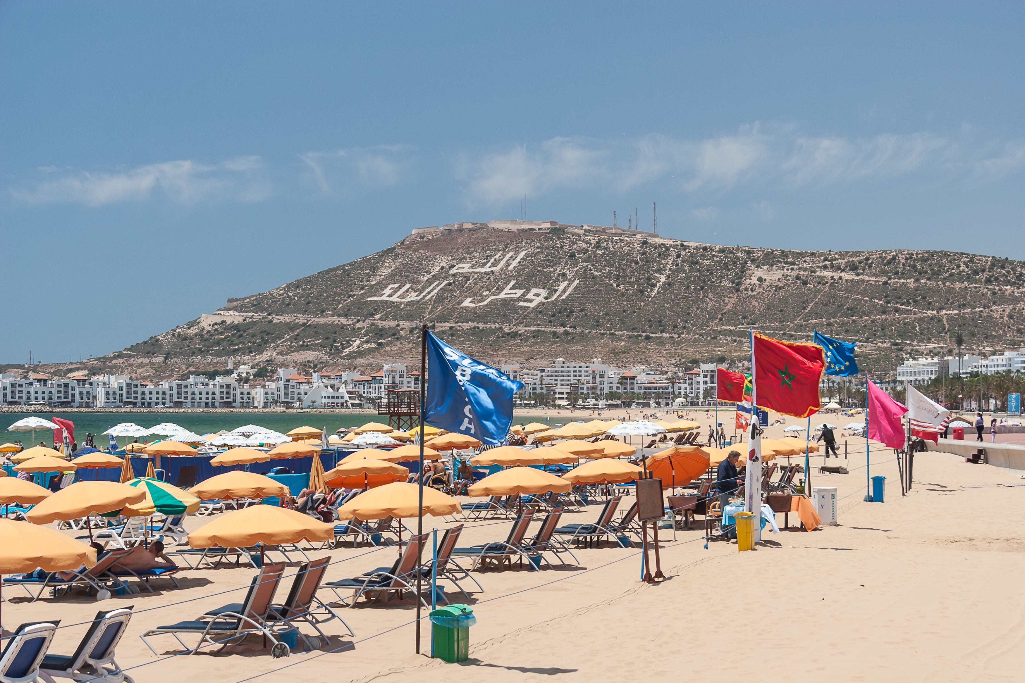
M114 660L114 650L131 620L131 607L96 612L74 654L47 654L39 667L40 676L52 683L55 678L97 683L134 683Z

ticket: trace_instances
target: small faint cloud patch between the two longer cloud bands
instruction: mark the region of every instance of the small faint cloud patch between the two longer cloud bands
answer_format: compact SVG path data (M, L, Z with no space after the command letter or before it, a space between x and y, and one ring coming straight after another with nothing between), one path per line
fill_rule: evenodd
M299 155L306 181L325 195L351 196L400 182L413 164L402 145L353 147Z

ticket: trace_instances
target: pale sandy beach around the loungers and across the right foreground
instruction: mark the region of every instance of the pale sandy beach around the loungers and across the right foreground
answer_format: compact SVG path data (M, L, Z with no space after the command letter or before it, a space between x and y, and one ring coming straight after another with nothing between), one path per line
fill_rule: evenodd
M782 426L768 430L782 435ZM863 443L863 441L862 441ZM1025 517L1022 480L988 465L947 454L918 454L915 484L902 497L894 452L873 444L871 473L887 479L885 503L865 503L863 450L850 474L818 474L813 485L838 489L838 526L816 531L766 529L756 551L735 543L705 548L703 524L662 531L666 580L639 583L640 551L603 546L574 550L579 564L541 571L526 568L475 572L485 593L461 597L474 606L470 659L445 664L414 653L415 603L339 609L356 637L337 622L324 652L274 659L250 637L240 646L186 656L169 636L154 639L155 657L141 643L145 630L196 618L242 598L249 567L186 569L180 589L155 582L155 594L96 602L71 595L30 603L5 588L3 617L22 622L60 618L51 652L70 653L97 609L134 605L118 661L136 681L216 680L448 681L488 676L496 681L641 680L753 675L756 680L1018 680L1025 664L1025 597L1014 588L1025 568L1019 525ZM784 459L785 460L785 459ZM623 501L625 509L630 501ZM563 523L585 522L596 506L569 512ZM783 515L778 515L780 525ZM189 517L187 527L207 520ZM415 524L415 520L410 520ZM504 539L511 522L467 522L460 546ZM537 529L534 522L530 533ZM426 528L451 525L427 518ZM700 528L699 528L700 527ZM389 564L396 548L308 550L330 555L327 580L355 577ZM571 563L572 564L572 563ZM286 571L278 600L291 585ZM234 590L233 590L234 589ZM224 593L224 591L231 591ZM450 588L450 594L453 590ZM219 595L214 595L220 593ZM321 597L330 595L322 589ZM313 632L305 629L308 634ZM428 629L422 650L429 651Z

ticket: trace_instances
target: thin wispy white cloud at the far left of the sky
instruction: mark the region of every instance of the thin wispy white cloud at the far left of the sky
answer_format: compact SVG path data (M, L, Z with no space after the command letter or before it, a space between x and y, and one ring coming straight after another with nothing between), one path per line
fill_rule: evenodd
M194 204L200 201L259 202L271 195L260 174L258 157L240 157L220 164L172 161L150 164L116 173L82 172L39 183L33 189L12 190L14 199L29 204L84 204L105 206L140 202L155 194ZM45 167L52 172L56 169Z

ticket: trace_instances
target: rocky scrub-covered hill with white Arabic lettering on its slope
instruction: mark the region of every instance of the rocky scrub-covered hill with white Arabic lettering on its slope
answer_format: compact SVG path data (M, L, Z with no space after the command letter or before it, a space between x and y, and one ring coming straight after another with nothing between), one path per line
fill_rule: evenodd
M805 252L661 238L457 230L235 301L97 360L173 375L250 365L418 362L428 323L468 353L683 368L740 360L751 328L857 340L863 365L1025 345L1025 264L939 251ZM149 372L142 367L149 368Z

